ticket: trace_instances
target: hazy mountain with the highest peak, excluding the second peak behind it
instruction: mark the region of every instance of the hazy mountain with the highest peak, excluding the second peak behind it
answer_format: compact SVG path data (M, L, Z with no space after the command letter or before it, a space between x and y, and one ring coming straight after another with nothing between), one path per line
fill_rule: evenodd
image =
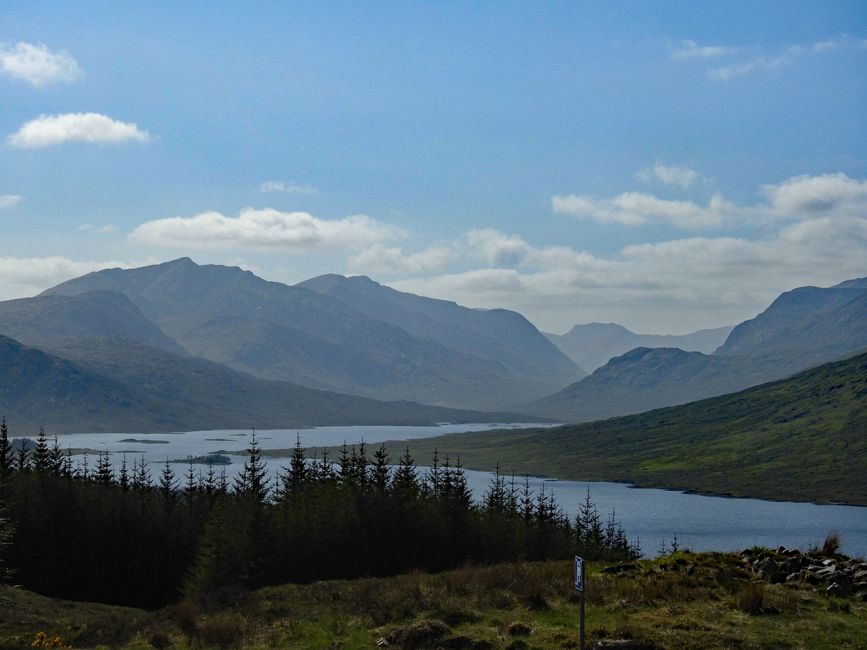
M557 384L415 336L316 291L187 258L90 273L43 295L94 290L123 293L190 354L261 378L476 409L542 397Z

